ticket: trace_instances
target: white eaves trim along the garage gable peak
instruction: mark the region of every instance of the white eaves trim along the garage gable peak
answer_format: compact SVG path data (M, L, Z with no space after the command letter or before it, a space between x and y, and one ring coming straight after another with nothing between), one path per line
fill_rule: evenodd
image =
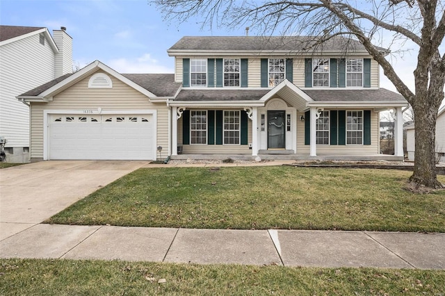
M60 81L56 85L52 86L51 88L45 90L40 94L39 97L53 97L58 92L61 92L63 90L63 87L65 85L69 85L70 83L77 81L79 79L82 79L84 76L88 76L91 72L95 71L96 69L102 69L107 74L110 74L111 76L114 76L115 79L118 79L122 81L123 83L129 85L131 88L134 88L135 90L138 90L138 92L145 94L145 96L149 98L156 98L156 95L152 92L149 92L142 86L138 85L137 83L134 83L130 79L127 79L127 77L124 77L122 74L116 72L115 70L111 69L111 67L108 67L104 63L99 62L99 60L95 60L90 65L83 67L78 72L72 74L70 77L67 77L67 79L64 79L63 81Z

